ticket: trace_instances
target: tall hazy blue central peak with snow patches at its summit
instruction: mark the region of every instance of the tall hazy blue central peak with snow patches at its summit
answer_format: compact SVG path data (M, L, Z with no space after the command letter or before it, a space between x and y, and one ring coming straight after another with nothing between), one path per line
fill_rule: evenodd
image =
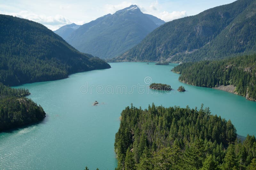
M143 14L138 6L131 5L82 25L66 40L81 52L113 58L137 45L162 24L163 20Z

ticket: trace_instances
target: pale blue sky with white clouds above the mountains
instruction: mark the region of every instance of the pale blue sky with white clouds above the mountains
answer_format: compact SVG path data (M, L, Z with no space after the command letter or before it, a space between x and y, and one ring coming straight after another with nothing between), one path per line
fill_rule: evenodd
M234 0L0 0L0 13L39 22L54 31L71 23L82 25L132 4L138 5L143 13L171 21L232 2Z

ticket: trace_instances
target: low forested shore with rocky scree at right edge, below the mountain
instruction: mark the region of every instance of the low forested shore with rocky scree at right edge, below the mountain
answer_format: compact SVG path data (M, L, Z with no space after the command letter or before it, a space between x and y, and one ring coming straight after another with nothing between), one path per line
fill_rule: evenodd
M256 101L256 54L218 61L180 64L172 69L179 80L202 87L235 86L234 93Z

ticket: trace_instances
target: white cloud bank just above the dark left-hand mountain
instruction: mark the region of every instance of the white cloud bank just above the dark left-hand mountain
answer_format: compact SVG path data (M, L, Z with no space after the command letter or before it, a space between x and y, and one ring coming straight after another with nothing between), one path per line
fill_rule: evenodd
M2 13L2 12L1 12ZM46 16L38 15L29 11L20 11L19 13L4 13L20 18L29 19L47 26L51 30L60 28L60 26L71 24L70 20L62 15Z

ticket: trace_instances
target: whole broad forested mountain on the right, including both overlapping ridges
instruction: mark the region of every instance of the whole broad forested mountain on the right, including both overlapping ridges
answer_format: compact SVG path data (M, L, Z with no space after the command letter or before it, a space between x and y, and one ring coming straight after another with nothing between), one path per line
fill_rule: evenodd
M114 60L188 61L253 51L255 2L238 0L168 22Z

